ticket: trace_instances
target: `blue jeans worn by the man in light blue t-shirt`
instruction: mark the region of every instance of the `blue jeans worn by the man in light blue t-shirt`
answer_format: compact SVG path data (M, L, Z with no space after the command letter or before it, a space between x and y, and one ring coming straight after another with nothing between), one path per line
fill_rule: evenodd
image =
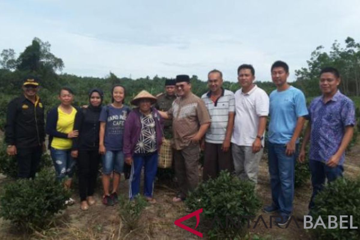
M279 209L280 214L290 215L293 210L295 161L298 144L296 144L295 153L291 156L286 155L285 150L285 144L268 143L273 205Z

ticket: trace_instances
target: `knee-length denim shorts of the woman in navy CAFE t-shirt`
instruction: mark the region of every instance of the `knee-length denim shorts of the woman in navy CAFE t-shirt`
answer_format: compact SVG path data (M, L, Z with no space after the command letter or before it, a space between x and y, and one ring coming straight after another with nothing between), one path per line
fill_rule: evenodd
M121 174L124 170L124 154L122 151L107 150L103 155L103 173L110 175L113 171Z

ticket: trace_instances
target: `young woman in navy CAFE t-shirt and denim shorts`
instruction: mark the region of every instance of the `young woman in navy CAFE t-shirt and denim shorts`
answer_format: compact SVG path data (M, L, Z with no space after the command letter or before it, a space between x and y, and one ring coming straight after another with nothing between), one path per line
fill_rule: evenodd
M115 85L112 88L112 103L104 107L100 113L99 153L103 155L103 204L116 204L117 189L124 166L122 141L124 123L130 108L124 105L125 88ZM113 173L112 192L110 194L110 177Z

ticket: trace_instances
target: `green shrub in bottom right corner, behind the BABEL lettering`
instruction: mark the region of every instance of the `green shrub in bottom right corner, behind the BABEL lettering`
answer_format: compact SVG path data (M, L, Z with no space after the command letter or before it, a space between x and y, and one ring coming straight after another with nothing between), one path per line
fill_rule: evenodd
M317 226L311 229L314 239L360 239L360 178L351 180L338 178L336 181L325 185L324 189L314 199L315 208L311 209L313 224L319 216L328 227L328 216L337 216L338 227L324 229ZM341 215L352 216L352 226L358 229L339 228L339 217ZM347 218L350 221L350 217Z

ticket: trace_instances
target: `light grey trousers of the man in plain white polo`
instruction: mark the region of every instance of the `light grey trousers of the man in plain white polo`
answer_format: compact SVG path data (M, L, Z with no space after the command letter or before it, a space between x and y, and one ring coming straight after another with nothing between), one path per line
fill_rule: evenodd
M257 153L252 153L251 146L238 146L231 144L233 153L235 175L243 180L250 180L257 183L257 173L259 171L259 163L264 148Z

